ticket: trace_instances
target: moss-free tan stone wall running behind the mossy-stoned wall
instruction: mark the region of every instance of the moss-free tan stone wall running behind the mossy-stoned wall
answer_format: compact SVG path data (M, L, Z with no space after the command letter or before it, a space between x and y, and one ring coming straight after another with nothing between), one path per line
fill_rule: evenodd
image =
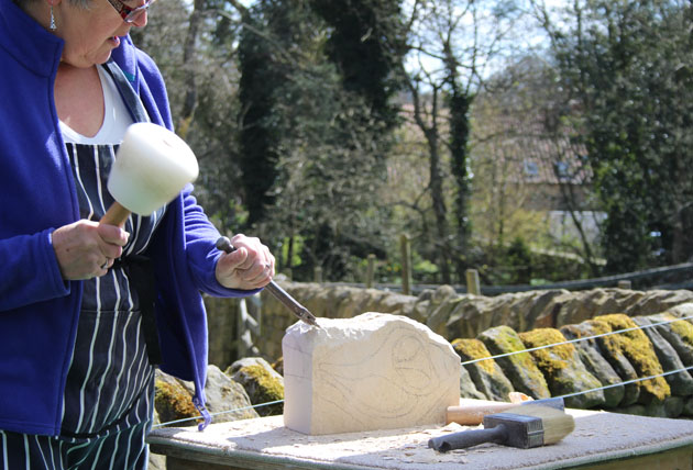
M645 316L693 302L693 292L688 290L538 290L483 296L458 294L451 287L442 286L411 296L344 286L283 281L279 284L318 317L349 318L364 312L400 314L425 323L450 342L474 338L499 325L516 332L559 328L608 313ZM282 356L282 337L296 317L267 292L261 294L261 334L253 342L257 352L272 362ZM233 344L238 337L238 301L206 299L206 304L210 362L226 368L240 358Z

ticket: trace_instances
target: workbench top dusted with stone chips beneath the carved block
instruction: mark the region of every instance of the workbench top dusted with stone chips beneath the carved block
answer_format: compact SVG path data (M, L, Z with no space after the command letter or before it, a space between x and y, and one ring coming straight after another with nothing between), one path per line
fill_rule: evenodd
M438 454L431 437L459 425L307 436L284 427L282 416L196 427L158 428L151 450L167 456L168 470L600 470L693 469L693 422L569 410L575 430L535 449L486 444Z

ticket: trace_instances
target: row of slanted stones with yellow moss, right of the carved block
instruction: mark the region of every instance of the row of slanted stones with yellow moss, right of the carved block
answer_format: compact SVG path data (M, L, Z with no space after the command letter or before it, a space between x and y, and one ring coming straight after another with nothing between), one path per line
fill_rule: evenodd
M575 409L693 416L691 317L693 303L685 303L653 315L612 313L522 333L496 326L454 339L468 373L461 395L507 401L518 391L564 396Z

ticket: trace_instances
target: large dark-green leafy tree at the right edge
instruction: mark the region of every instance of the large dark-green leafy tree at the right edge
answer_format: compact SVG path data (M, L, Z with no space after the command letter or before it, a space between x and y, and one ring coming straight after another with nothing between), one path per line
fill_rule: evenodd
M575 1L568 26L535 5L562 82L581 107L576 125L607 212L607 270L690 259L691 5Z

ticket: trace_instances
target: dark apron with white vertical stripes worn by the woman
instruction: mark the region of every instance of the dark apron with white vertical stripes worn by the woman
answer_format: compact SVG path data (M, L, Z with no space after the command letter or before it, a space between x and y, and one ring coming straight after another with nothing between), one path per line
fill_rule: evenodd
M111 68L111 76L119 70ZM125 102L134 91L114 77ZM113 202L106 183L117 145L66 144L81 219L98 221ZM0 469L145 469L154 410L155 367L147 357L133 260L141 259L164 213L131 215L123 256L108 273L84 281L82 303L63 401L59 436L0 430ZM151 292L150 292L151 293ZM147 294L150 294L147 293ZM147 296L148 298L148 296ZM59 313L56 313L59 314ZM151 351L148 351L151 352Z

